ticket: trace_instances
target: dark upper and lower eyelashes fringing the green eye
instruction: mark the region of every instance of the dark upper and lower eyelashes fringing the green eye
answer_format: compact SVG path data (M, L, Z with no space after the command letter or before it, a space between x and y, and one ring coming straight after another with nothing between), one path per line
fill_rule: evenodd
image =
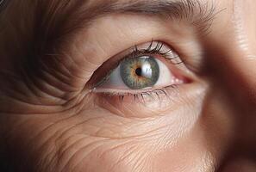
M153 47L153 44L156 43L155 47ZM160 41L154 41L152 40L150 45L147 48L142 48L139 49L138 46L134 46L133 51L130 52L127 56L125 56L125 58L120 59L116 64L120 64L122 62L122 60L125 60L126 58L137 58L139 56L143 56L143 55L160 55L161 57L165 58L165 60L168 60L169 62L171 62L171 64L183 64L184 62L179 58L178 54L173 56L172 53L172 48L170 48L170 50L168 51L163 51L163 47L165 46L165 44L163 42ZM172 57L172 58L169 58ZM174 62L173 60L175 60L176 58L179 58L178 62ZM114 68L115 69L115 68ZM111 71L113 71L113 69L110 70L109 73L111 73ZM107 77L104 77L101 82L99 83L103 83L103 81L108 78L109 75L107 75ZM152 98L153 100L155 100L156 98L159 99L160 101L160 96L159 95L165 95L168 99L170 98L168 95L168 90L169 89L175 89L177 88L178 85L171 85L171 86L167 86L165 88L161 88L161 89L153 89L153 90L147 90L147 91L142 91L140 93L118 93L118 92L105 92L102 93L103 95L108 95L108 96L116 96L118 98L119 101L123 101L127 96L133 96L133 100L137 101L137 100L141 100L142 102L145 101L145 96L148 96L150 98ZM96 87L94 87L96 88ZM93 89L91 90L93 91Z

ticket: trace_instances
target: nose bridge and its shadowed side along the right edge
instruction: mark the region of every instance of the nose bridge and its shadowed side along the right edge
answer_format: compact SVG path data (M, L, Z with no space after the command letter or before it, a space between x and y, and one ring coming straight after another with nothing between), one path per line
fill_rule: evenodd
M238 154L243 152L249 154L246 156L256 157L256 28L252 31L256 26L256 14L244 5L248 1L234 0L234 11L224 11L231 15L221 19L223 25L213 28L218 32L213 31L203 40L203 64L212 78L213 94L220 90L222 97L227 98L224 102L228 102L227 106L232 109L228 118L233 118L235 123L235 145L230 147L234 147L233 151ZM256 2L247 5L253 4ZM247 20L246 17L252 14L251 20ZM216 18L217 23L219 20Z

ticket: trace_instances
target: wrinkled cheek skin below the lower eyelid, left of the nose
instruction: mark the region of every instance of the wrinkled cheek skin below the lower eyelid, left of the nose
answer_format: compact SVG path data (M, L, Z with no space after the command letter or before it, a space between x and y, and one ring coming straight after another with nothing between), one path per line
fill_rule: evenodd
M137 120L96 105L74 112L9 118L9 145L15 148L17 161L24 156L24 161L47 171L51 166L54 171L148 171L159 151L172 149L184 128L194 123L184 123L182 110Z

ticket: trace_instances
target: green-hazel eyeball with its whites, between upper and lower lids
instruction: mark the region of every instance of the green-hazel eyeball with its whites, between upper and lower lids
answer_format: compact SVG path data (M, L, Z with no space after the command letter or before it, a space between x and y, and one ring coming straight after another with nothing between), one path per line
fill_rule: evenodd
M147 48L135 46L109 75L103 77L94 90L97 93L125 95L184 82L169 69L170 63L182 63L178 54L162 42L151 42L143 46Z

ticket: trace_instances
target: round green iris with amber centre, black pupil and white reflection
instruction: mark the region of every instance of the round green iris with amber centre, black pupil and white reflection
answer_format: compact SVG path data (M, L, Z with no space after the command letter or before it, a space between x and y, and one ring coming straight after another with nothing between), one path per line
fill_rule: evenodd
M120 64L123 83L130 89L153 87L159 80L159 64L153 57L127 58Z

